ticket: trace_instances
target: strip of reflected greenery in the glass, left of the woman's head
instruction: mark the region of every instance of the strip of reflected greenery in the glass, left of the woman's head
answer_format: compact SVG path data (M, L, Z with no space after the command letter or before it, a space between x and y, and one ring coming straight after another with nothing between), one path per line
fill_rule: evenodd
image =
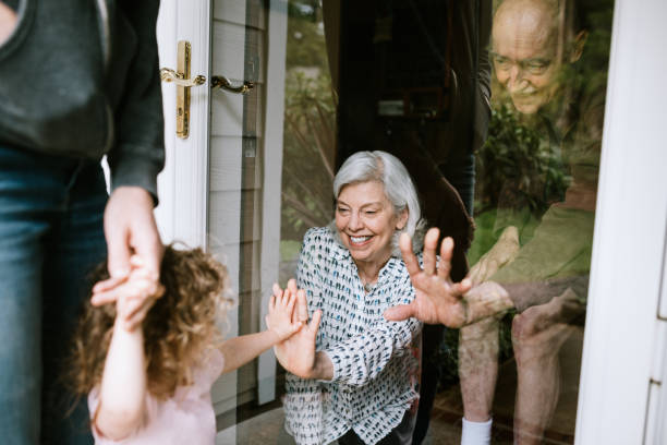
M281 226L301 241L331 218L336 108L319 2L289 4Z

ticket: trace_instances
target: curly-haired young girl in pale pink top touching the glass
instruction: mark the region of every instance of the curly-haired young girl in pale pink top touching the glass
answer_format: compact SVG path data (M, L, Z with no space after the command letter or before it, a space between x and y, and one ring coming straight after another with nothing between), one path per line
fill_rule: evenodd
M272 297L267 330L221 340L218 315L229 305L227 269L199 249L168 246L160 270L163 294L129 330L133 299L153 286L141 258L112 304L86 303L76 336L72 381L88 396L95 443L214 444L210 386L301 328L295 297ZM94 282L106 278L100 265Z

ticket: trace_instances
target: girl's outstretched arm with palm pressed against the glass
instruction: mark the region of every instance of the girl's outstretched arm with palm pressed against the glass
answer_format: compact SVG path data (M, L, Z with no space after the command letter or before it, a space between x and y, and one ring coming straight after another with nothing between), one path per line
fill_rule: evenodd
M302 323L292 321L295 296L272 296L266 316L268 329L230 338L220 346L225 357L222 373L243 366L270 347L289 338L301 328Z

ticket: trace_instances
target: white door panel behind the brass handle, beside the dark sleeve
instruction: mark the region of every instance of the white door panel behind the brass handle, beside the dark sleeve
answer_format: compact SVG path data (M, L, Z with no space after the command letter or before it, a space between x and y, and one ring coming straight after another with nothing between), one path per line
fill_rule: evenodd
M157 26L160 68L175 69L177 43L192 45L191 76L206 76L191 88L190 136L175 136L175 85L162 83L165 170L158 177L156 219L162 241L206 248L208 232L208 135L210 117L210 1L163 0Z

